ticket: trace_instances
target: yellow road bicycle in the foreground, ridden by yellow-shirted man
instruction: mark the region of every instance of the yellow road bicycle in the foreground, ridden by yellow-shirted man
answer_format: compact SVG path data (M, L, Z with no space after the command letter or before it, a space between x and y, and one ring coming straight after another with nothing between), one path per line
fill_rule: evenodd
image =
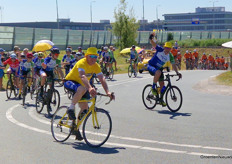
M98 92L97 96L107 95ZM79 101L91 103L88 112L79 121L69 119L67 106L58 108L51 120L52 136L57 142L66 141L73 132L80 129L82 123L82 136L90 147L100 147L108 140L112 130L112 121L108 111L95 106L97 96ZM112 99L106 105L111 101Z

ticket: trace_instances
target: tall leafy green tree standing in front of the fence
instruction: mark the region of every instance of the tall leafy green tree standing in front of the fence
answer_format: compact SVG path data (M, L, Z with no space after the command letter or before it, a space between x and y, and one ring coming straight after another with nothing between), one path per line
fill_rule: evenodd
M136 23L133 8L131 8L129 15L125 14L126 9L126 0L120 0L118 10L114 10L115 22L112 24L112 32L117 38L116 46L120 49L137 44L136 38L139 23Z

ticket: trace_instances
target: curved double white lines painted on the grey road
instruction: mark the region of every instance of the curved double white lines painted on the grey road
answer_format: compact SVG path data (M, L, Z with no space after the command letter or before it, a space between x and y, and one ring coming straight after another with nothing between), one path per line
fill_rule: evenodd
M11 107L10 109L7 110L6 112L6 117L9 121L12 123L21 126L23 128L33 130L35 132L47 134L51 136L51 132L38 129L35 127L31 127L29 125L23 124L16 119L13 118L12 112L15 108L17 108L18 105L15 105ZM29 115L32 116L34 119L38 120L38 118L35 116L35 114L32 114L33 111L29 111ZM39 119L39 122L45 123L45 124L51 124L49 121ZM155 143L155 144L162 144L162 145L171 145L171 146L182 146L182 147L189 147L189 148L201 148L201 149L209 149L209 150L223 150L223 151L232 151L232 149L229 148L218 148L218 147L209 147L209 146L200 146L200 145L186 145L186 144L175 144L175 143L169 143L169 142L160 142L160 141L153 141L153 140L146 140L146 139L138 139L138 138L130 138L130 137L121 137L121 136L115 136L111 135L110 138L118 138L121 140L130 140L130 141L138 141L138 142L146 142L146 143ZM71 139L74 139L74 137L71 137ZM113 146L122 146L122 147L128 147L128 148L134 148L134 149L141 149L141 150L150 150L150 151L157 151L157 152L166 152L166 153L179 153L179 154L188 154L188 155L211 155L211 156L218 156L217 154L205 154L205 153L200 153L200 152L187 152L187 151L180 151L180 150L173 150L173 149L161 149L161 148L154 148L154 147L143 147L143 146L138 146L138 145L128 145L128 144L120 144L120 143L112 143L112 142L106 142L106 145L113 145Z

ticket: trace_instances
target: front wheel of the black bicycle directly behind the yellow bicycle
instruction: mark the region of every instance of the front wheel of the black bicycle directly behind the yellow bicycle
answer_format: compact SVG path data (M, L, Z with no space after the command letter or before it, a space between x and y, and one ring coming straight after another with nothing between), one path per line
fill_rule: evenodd
M60 107L60 93L56 89L52 93L50 106L51 110L47 108L48 115L53 116L56 110Z

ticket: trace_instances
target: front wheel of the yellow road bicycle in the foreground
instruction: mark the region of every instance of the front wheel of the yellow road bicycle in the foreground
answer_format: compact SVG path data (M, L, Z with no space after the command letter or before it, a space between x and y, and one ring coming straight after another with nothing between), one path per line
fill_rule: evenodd
M83 138L90 147L102 146L108 140L112 130L112 121L107 111L95 108L95 114L98 126L96 117L93 117L92 112L87 115L83 123Z

